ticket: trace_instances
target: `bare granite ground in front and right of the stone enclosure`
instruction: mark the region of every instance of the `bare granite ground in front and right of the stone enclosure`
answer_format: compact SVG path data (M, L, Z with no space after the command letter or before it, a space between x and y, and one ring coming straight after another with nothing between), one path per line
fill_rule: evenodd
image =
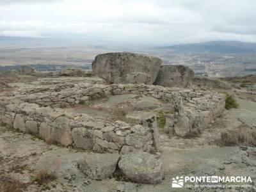
M255 148L221 147L219 142L223 130L251 124L250 110L255 109L256 104L247 100L239 100L239 104L240 108L225 111L196 138L168 139L166 134L161 134L164 180L157 185L136 184L118 175L104 180L88 179L74 163L84 151L48 145L35 136L1 125L0 191L175 191L170 179L177 175L246 175L252 177L254 189L240 191L253 191L256 188ZM247 110L251 115L241 120L241 111ZM56 179L40 185L35 180L36 174L46 168L56 173Z

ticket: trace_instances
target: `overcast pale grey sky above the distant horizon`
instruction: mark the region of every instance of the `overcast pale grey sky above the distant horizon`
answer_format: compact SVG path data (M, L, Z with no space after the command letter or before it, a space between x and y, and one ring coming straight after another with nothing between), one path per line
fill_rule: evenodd
M0 36L256 42L255 0L0 0Z

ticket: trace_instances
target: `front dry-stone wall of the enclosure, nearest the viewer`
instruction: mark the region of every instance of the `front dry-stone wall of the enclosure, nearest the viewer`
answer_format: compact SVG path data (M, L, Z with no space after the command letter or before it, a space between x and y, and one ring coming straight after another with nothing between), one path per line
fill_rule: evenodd
M119 120L103 122L89 115L24 102L1 108L0 122L51 143L99 153L127 153L135 149L154 152L158 148L154 115L141 119L138 125L129 125Z

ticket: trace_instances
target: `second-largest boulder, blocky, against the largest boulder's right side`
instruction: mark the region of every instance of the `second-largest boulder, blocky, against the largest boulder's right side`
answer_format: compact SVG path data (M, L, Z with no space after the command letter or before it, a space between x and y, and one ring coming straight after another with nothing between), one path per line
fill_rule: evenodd
M184 65L163 65L154 84L172 87L187 86L195 73Z

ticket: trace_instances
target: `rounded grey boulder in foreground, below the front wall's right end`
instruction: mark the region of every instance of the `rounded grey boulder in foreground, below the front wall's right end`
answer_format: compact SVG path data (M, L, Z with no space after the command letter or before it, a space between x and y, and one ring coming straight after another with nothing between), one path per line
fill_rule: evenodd
M157 184L164 175L163 163L145 152L124 154L118 167L125 177L139 183Z

